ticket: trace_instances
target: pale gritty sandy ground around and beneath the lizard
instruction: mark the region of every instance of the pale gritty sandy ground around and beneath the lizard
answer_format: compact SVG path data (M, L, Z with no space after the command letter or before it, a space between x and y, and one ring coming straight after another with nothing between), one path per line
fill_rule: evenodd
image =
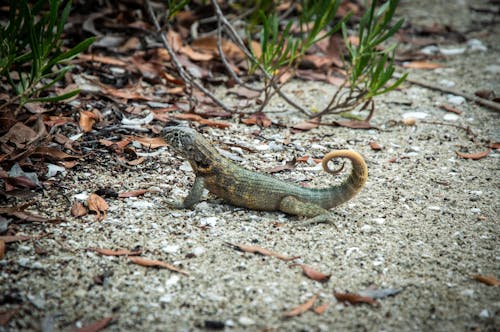
M491 14L471 11L466 1L429 7L427 2L406 1L400 13L414 24L450 24L468 39L481 40L487 50L449 55L444 67L415 70L411 77L443 87L455 84L453 89L470 94L484 88L500 92L500 28L474 31ZM443 45L453 49L467 42ZM320 108L335 87L294 81L286 91L304 105ZM218 93L238 102L223 90ZM456 152L481 152L499 142L499 113L458 102L406 84L376 100L376 129L322 126L289 135L288 129L271 126L254 136L259 128L239 123L237 116L226 130L204 129L214 145L258 171L294 156L321 158L339 148L362 153L369 169L366 188L334 210L334 225L294 227L298 218L235 208L210 195L193 210L172 210L167 199L181 199L193 182L180 157L162 149L142 164L126 167L110 154L98 154L95 162L59 176L57 187L32 208L66 221L22 225L20 235L49 236L36 246L8 244L0 261L0 311L19 311L0 331L72 330L110 316L114 320L108 331L498 330L499 287L473 276L500 277L500 155L491 150L483 159L470 160ZM462 113L450 115L441 104ZM402 120L409 112L425 118L405 125ZM273 100L268 115L281 124L304 121L280 100ZM371 149L370 142L382 150ZM276 176L311 187L342 180L332 179L314 163L300 163ZM101 222L94 215L71 217L72 202L99 188L149 191L138 198L107 198L110 208ZM300 256L297 263L331 277L324 283L313 281L290 262L242 253L227 243ZM174 264L189 276L138 266L127 257L102 256L90 247L140 247L142 256ZM378 306L348 305L333 296L334 291L366 290L399 292L379 299ZM315 306L330 303L324 314L284 317L314 294L319 294Z

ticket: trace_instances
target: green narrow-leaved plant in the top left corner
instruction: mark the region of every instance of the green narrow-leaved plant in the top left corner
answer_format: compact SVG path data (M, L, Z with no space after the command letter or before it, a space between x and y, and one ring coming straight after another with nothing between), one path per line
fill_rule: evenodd
M48 3L48 10L44 10ZM54 102L78 94L40 96L71 69L67 62L85 50L95 38L88 38L64 51L61 35L71 9L71 1L60 9L61 0L11 0L9 22L0 26L0 75L16 97L0 107L18 102Z

